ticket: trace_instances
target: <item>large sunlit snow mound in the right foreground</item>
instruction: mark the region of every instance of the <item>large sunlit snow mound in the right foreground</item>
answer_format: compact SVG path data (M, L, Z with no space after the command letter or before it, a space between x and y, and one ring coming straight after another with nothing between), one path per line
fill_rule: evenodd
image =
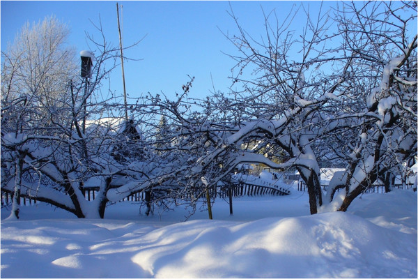
M417 276L416 236L341 212L242 225L196 220L143 243L132 261L157 278Z

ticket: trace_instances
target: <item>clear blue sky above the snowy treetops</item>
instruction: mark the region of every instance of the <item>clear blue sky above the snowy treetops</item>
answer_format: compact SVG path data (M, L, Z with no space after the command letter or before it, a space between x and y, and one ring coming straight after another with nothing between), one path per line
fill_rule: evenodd
M182 91L181 86L196 77L189 96L203 98L213 86L228 92L228 79L234 61L223 54L235 53L235 47L219 31L237 34L238 29L226 12L227 1L118 1L123 8L123 44L146 36L137 47L124 52L140 61L125 63L125 80L130 97L164 92L169 98ZM320 2L309 1L316 9ZM332 2L327 2L330 5ZM276 9L286 17L295 1L231 1L242 27L251 35L263 32L263 13ZM306 5L308 3L305 3ZM5 51L25 22L38 22L55 15L68 24L70 45L77 52L88 50L85 32L98 35L90 21L102 20L109 42L118 45L116 1L1 1L1 50ZM300 21L304 23L304 20ZM218 29L219 28L219 29ZM212 77L211 77L212 76ZM213 86L212 86L213 81ZM107 85L106 85L107 86ZM111 76L111 91L122 93L121 70Z

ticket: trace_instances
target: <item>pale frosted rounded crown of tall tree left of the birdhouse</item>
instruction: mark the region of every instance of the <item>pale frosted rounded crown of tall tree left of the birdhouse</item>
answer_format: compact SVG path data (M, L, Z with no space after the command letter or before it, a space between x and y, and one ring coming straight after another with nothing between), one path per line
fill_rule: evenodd
M75 48L67 44L69 29L55 17L26 23L6 52L1 52L1 99L26 100L26 117L46 126L58 121L55 114L68 111L68 82L77 75ZM61 119L62 120L62 119ZM22 124L22 123L21 123ZM60 123L61 124L61 123ZM22 125L15 126L24 128Z

